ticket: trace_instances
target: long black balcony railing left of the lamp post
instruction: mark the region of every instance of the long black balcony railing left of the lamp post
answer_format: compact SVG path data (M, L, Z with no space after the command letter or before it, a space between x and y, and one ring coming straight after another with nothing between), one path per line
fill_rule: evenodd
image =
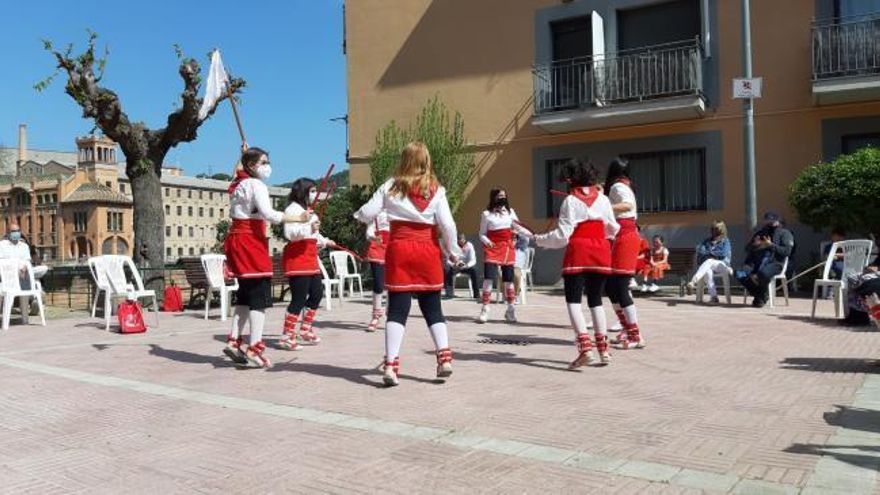
M703 93L699 39L571 60L534 69L535 114Z

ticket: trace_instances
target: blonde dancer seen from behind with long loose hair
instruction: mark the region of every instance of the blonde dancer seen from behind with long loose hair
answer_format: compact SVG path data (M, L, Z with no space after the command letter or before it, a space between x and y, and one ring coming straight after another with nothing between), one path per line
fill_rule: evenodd
M452 374L446 319L440 307L443 267L435 229L456 261L461 249L446 201L446 190L437 181L428 148L420 142L406 145L394 176L383 184L354 217L371 223L382 210L391 223L385 256L385 286L388 288L388 317L385 322L385 385L398 384L400 346L406 332L413 295L428 324L437 353L437 377Z

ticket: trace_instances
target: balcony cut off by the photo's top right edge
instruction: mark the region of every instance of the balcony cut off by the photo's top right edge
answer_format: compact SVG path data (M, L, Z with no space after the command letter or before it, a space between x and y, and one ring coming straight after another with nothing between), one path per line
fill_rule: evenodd
M880 14L814 22L812 38L819 104L880 98Z

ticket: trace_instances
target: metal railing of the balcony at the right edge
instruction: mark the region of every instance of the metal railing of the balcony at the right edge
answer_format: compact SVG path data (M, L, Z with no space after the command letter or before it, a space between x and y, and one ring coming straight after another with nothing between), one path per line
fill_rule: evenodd
M813 81L880 74L880 13L816 21Z

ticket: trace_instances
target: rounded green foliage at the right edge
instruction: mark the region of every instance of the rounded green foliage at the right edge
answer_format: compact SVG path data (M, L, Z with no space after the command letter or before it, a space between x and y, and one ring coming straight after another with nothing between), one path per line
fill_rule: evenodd
M789 203L815 229L880 234L880 149L862 148L806 168L791 185Z

